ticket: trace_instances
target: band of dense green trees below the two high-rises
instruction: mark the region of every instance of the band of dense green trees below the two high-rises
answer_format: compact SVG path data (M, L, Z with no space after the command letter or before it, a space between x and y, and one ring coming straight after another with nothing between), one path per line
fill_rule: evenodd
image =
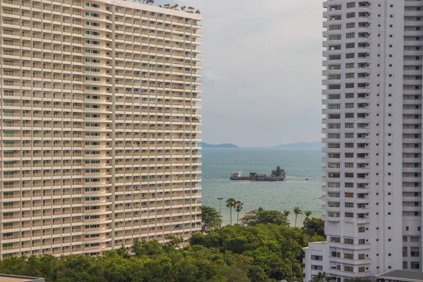
M309 240L323 240L319 219L307 217L302 228L293 228L285 214L257 209L248 213L248 226L217 228L216 211L203 212L214 229L192 235L187 247L178 247L183 240L170 236L164 245L137 241L97 257L8 257L0 261L0 273L51 282L275 282L290 280L292 269L292 278L300 281L302 247Z

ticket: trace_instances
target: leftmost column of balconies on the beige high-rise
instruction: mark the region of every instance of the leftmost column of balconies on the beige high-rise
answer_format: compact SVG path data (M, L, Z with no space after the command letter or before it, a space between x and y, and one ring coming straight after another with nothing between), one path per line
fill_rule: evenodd
M2 257L18 255L20 248L20 197L23 193L21 179L14 178L21 173L22 144L20 141L20 116L22 116L21 65L20 57L21 32L20 5L13 2L2 2L1 8L1 237L0 252ZM16 76L16 80L13 79ZM20 177L20 176L18 176Z

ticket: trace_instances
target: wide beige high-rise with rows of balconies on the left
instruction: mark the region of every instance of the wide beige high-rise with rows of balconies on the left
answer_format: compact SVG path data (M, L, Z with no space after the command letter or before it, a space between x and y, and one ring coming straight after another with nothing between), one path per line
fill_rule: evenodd
M2 0L0 257L200 230L201 16Z

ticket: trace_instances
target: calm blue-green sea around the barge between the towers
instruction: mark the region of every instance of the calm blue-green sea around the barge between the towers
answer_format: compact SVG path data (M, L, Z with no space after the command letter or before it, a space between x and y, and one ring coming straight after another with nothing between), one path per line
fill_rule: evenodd
M202 149L202 202L219 211L218 197L223 197L223 223L229 223L225 201L233 197L244 203L243 213L258 207L291 211L293 207L321 215L321 152L288 151L276 148L204 148ZM287 178L278 182L229 180L232 172L270 174L276 166L285 169ZM309 180L305 180L308 178ZM236 213L232 211L233 221ZM301 222L304 216L298 218Z

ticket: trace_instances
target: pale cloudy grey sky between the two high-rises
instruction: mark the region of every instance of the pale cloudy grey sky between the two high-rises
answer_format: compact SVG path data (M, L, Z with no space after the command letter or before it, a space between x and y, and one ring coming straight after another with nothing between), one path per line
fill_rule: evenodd
M319 0L156 0L202 13L202 140L321 139Z

